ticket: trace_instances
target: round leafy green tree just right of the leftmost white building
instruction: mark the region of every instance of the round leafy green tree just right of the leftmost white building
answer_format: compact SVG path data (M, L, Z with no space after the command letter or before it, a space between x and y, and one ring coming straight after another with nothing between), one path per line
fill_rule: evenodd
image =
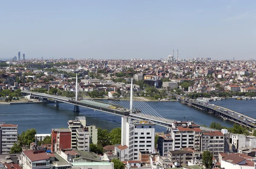
M21 146L29 146L30 143L35 142L35 129L27 129L18 136L18 142Z

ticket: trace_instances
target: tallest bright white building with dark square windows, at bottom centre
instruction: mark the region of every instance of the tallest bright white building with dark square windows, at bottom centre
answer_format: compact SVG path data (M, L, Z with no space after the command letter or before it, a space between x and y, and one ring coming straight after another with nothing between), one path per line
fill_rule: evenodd
M154 137L154 123L132 121L131 118L122 117L122 147L115 147L115 153L117 152L116 154L118 155L118 152L123 149L128 160L138 160L140 151L154 150ZM127 149L129 150L128 152Z

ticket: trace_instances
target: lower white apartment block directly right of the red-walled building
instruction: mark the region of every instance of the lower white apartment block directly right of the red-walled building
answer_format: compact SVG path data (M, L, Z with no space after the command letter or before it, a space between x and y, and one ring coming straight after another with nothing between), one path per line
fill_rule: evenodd
M76 149L90 152L90 132L87 127L76 129Z

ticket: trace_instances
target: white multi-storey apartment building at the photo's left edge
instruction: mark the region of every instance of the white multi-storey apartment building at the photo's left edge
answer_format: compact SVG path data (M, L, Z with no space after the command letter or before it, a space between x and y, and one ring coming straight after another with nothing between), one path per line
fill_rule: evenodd
M0 154L9 153L14 143L17 143L18 126L0 123L0 140Z

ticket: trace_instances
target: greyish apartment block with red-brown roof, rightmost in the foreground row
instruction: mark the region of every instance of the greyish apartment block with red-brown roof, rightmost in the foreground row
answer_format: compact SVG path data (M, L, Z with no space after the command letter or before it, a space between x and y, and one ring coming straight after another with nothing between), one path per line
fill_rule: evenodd
M215 160L219 160L218 154L224 153L224 134L219 131L204 132L201 139L201 151L209 150Z

